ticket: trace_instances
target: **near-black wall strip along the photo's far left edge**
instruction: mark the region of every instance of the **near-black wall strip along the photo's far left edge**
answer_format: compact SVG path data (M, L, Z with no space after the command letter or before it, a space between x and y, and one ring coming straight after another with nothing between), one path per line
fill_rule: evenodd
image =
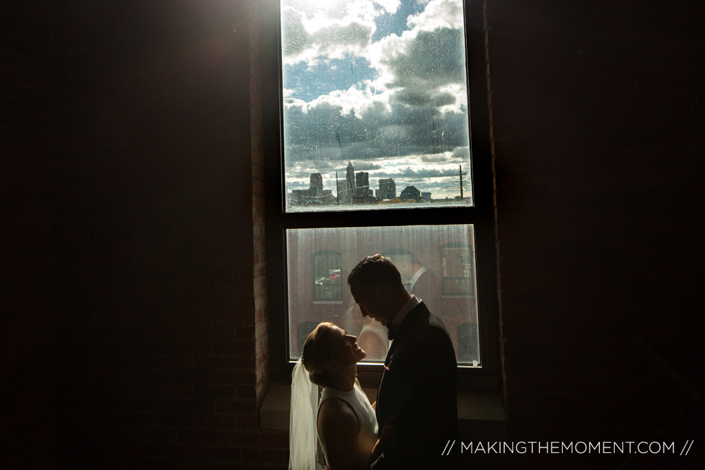
M0 6L0 466L53 466L51 1Z

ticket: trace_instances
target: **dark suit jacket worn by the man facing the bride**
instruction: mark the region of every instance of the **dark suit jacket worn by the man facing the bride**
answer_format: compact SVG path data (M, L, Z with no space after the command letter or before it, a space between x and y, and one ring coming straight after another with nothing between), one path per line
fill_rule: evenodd
M457 365L443 321L421 302L390 335L376 416L380 435L393 419L394 438L372 469L463 468Z

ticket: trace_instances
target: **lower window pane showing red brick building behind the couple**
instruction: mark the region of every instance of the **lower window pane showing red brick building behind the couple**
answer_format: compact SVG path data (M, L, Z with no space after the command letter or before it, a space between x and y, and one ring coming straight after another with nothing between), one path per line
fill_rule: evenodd
M348 287L357 262L381 253L409 293L443 319L458 364L481 366L472 225L300 228L286 230L286 243L291 360L318 323L332 321L357 335L365 361L384 361L386 328L362 317Z

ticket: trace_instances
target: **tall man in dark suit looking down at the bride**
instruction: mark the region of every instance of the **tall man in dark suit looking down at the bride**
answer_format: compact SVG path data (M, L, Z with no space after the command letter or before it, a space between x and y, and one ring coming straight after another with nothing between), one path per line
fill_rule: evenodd
M456 362L443 321L409 295L394 264L367 256L348 276L350 292L393 340L377 392L379 433L391 440L371 469L460 469ZM450 454L444 449L455 440Z

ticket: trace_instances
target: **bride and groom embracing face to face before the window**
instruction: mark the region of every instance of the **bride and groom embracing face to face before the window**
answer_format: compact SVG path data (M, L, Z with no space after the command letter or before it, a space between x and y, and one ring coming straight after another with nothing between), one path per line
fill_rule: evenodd
M443 321L407 292L396 266L379 254L360 261L348 284L362 316L386 326L392 342L376 403L369 404L356 377L357 363L366 355L357 338L326 322L306 339L292 394L294 400L301 390L303 368L323 389L317 413L313 410L317 423L309 427L317 430L327 465L331 470L462 468L460 452L443 454L449 440L459 440L457 366ZM308 431L295 431L300 416L293 406L292 442L299 437L294 433ZM306 443L293 444L290 468L314 469L314 463L300 459L311 455L312 442L308 435Z

